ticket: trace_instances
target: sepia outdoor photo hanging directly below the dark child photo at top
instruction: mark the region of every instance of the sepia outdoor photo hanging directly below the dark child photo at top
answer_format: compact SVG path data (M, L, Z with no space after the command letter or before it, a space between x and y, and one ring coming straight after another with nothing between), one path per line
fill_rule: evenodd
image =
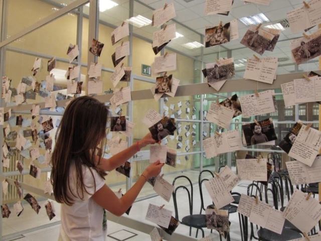
M214 83L220 80L235 77L234 58L224 59L219 63L206 64L207 82Z

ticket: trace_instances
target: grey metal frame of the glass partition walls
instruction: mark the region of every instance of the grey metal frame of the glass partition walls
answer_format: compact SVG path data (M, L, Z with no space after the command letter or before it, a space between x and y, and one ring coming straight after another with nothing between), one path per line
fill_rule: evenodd
M63 8L61 8L59 11L53 13L52 15L38 21L37 23L29 26L28 28L20 31L19 33L15 34L14 36L11 36L9 37L8 39L6 38L7 37L7 34L6 34L6 26L5 26L5 20L6 20L6 15L8 13L6 13L6 2L8 0L0 0L0 28L1 28L1 38L0 38L0 76L3 76L5 75L5 64L6 64L6 59L5 59L5 53L6 51L13 51L13 52L17 52L17 53L23 53L23 54L28 54L28 55L32 55L32 56L38 56L38 57L43 57L43 58L50 58L51 56L48 56L46 54L42 54L42 53L36 53L36 52L32 52L32 51L27 51L27 50L23 50L23 49L18 49L18 48L14 48L14 47L10 47L8 46L10 43L12 43L13 41L41 28L41 27L44 27L45 25L55 21L56 19L68 14L68 13L74 13L77 15L78 17L78 21L77 21L77 44L79 46L79 48L81 49L81 46L82 46L82 24L83 24L83 18L88 18L89 19L89 32L88 32L88 49L91 45L91 40L93 38L97 39L98 38L98 27L99 27L99 24L104 24L108 27L111 27L111 28L115 28L116 26L113 26L111 24L108 24L108 23L104 23L102 21L99 21L99 0L77 0L71 4L69 4L68 6L65 6ZM51 0L41 0L43 2L46 2L48 4L51 4L51 5L54 5L55 3L52 2ZM140 1L138 0L129 0L129 18L130 17L133 17L133 14L134 14L134 2L138 3L138 4L141 4L147 8L149 8L150 10L153 10L152 8L150 8L148 5L145 5L143 3L141 3ZM90 3L90 7L89 7L89 15L85 15L83 14L83 5L87 4L87 3ZM57 4L56 4L56 7ZM60 6L61 7L61 6ZM174 21L174 22L177 22L177 21ZM177 22L178 23L178 22ZM181 23L179 23L180 25L182 25ZM130 42L130 51L132 53L132 40L133 40L133 37L137 37L139 39L142 39L144 41L147 41L147 42L151 42L151 40L149 39L146 39L142 36L139 36L137 34L135 34L133 32L133 27L131 25L129 25L130 28L129 28L129 42ZM190 31L194 32L194 33L197 33L196 31L194 31L193 29L190 29L188 28L187 26L184 26L182 25L183 27L189 29ZM199 33L197 33L199 34ZM201 43L203 43L203 40L204 40L204 36L199 34L200 35L200 41ZM227 51L227 56L230 58L232 57L232 50L228 50L226 48L224 48L224 46L222 46L223 49L225 49L224 51ZM186 53L183 53L183 52L180 52L180 51L177 51L175 49L172 49L172 48L169 48L169 47L166 47L166 49L168 50L171 50L173 52L176 52L178 54L181 54L183 56L186 56L186 57L189 57L195 61L198 61L201 63L201 66L202 66L202 69L204 68L205 66L205 63L204 63L204 53L203 53L203 49L201 50L201 56L200 58L198 57L194 57L194 56L190 56ZM82 63L81 62L81 51L80 51L80 54L79 54L79 57L78 57L78 60L77 61L74 61L73 63L74 64L78 64L78 65L81 65L82 67L87 67L89 68L90 66L90 63L91 62L96 62L97 61L97 57L93 56L93 55L88 55L88 58L87 58L87 63ZM162 50L162 54L164 54L164 50ZM217 56L219 56L220 53L217 53ZM132 66L132 54L130 54L128 56L128 66ZM218 57L217 57L218 58ZM64 58L56 58L58 61L61 61L61 62L64 62L64 63L69 63L69 60L68 59L64 59ZM114 70L113 69L110 69L110 68L103 68L102 69L103 71L106 71L106 72L113 72ZM297 71L298 70L298 67L297 65L295 65L295 70ZM318 73L321 74L321 71L316 71ZM79 76L80 77L80 76ZM182 85L182 86L179 86L178 87L178 90L177 90L177 93L176 93L176 97L177 96L189 96L189 95L201 95L201 98L198 99L198 101L200 101L200 120L190 120L190 119L180 119L179 121L180 122L189 122L189 123L200 123L200 141L202 140L202 133L203 133L203 124L204 123L208 123L207 121L203 121L203 100L204 100L204 94L214 94L216 95L217 97L226 97L220 93L229 93L229 92L234 92L234 91L245 91L245 90L256 90L258 87L259 89L275 89L275 88L280 88L280 85L282 83L286 83L286 82L289 82L289 81L292 81L293 79L295 78L301 78L302 77L302 73L293 73L293 74L284 74L284 75L278 75L277 76L277 79L274 81L274 83L272 85L270 84L266 84L266 83L259 83L258 85L256 84L253 84L253 81L252 80L247 80L247 79L234 79L234 80L229 80L225 83L225 85L222 87L221 91L215 91L213 88L209 87L207 83L204 83L204 78L203 78L203 75L201 74L201 83L194 83L194 84L188 84L188 85ZM147 90L137 90L137 91L133 91L134 89L134 82L133 80L139 80L139 81L146 81L146 82L150 82L150 83L154 83L155 81L151 78L147 78L147 77L143 77L143 76L139 76L139 75L135 75L135 74L132 74L131 75L131 81L128 83L128 86L130 86L130 90L131 90L131 98L133 101L135 100L142 100L142 99L153 99L153 96L150 92L149 89ZM88 79L87 79L88 81ZM0 91L2 91L2 89L0 88ZM0 92L1 94L1 92ZM102 102L108 102L109 99L112 97L112 94L103 94L103 95L98 95L96 96L96 98ZM1 106L4 106L5 103L3 102L3 100L1 99L0 100L1 102ZM132 121L132 116L133 116L133 101L131 101L129 104L128 104L128 108L127 108L127 115L129 116L129 120ZM60 101L57 101L57 106L65 106L65 103L67 102L67 100L60 100ZM45 103L44 102L41 102L41 103L38 103L40 104L41 108L44 108L45 107ZM29 110L31 109L32 107L32 104L26 104L26 105L19 105L19 106L10 106L10 108L12 109L13 112L16 112L16 113L27 113L27 111L29 112ZM164 101L163 99L161 99L161 101L159 101L159 109L161 110L161 112L163 113L163 107L164 107ZM5 107L5 110L9 109L9 107ZM295 120L293 122L276 122L276 123L279 123L279 124L288 124L288 123L295 123L295 121L297 121L298 119L298 105L295 106ZM61 113L57 113L57 112L50 112L50 111L44 111L42 110L41 111L41 114L50 114L50 115L54 115L54 114L58 114L58 115L61 115ZM317 123L317 122L313 122L313 123ZM231 124L236 124L236 123L231 123ZM242 124L242 122L239 122L237 124ZM133 143L133 139L132 137L129 138L128 140L128 144L131 145ZM3 140L3 133L0 132L0 144L1 146L3 146L3 143L4 143L4 140ZM258 150L258 149L245 149L247 151L261 151L261 152L264 152L264 151L267 151L267 150ZM0 149L0 155L3 155L2 153L2 149ZM278 151L276 151L278 152ZM181 153L181 154L178 154L178 156L183 156L183 155L200 155L200 171L203 170L203 147L202 145L200 145L200 151L196 151L196 152L190 152L190 153ZM131 159L131 161L134 161L133 159ZM231 165L231 155L228 156L228 164ZM216 168L217 165L216 165ZM42 169L42 172L49 172L50 171L50 168L46 168L46 169ZM5 178L7 178L8 176L11 176L11 175L16 175L16 174L19 174L19 172L6 172L4 173L3 172L3 164L2 162L0 162L0 180L4 180ZM24 174L28 174L28 171L23 171L22 173L23 175ZM11 179L8 179L8 182L11 183L12 180ZM126 181L126 186L127 188L130 188L131 187L131 183L132 180L131 178L127 178L127 181ZM11 183L12 184L12 183ZM28 191L32 191L33 193L37 193L41 196L44 196L46 198L53 198L52 196L49 196L49 195L45 195L43 194L43 190L41 189L38 189L38 188L35 188L33 186L30 186L28 184L22 184L22 187ZM150 196L147 196L147 197L144 197L144 198L148 198ZM2 186L0 185L0 199L2 200L3 198L3 192L2 192ZM138 199L139 200L139 199ZM118 219L115 219L115 217L113 215L108 215L108 219L111 220L111 221L116 221L116 220L119 220ZM0 221L2 221L2 217L0 216ZM132 227L134 229L137 229L139 231L143 231L145 233L148 233L151 231L151 228L153 228L153 226L151 225L148 225L148 224L145 224L145 223L141 223L137 220L132 220L128 217L121 217L121 221L122 221L122 224L123 225L126 225L126 226L129 226L129 227ZM38 229L40 228L43 228L44 226L41 226L39 227ZM37 228L33 229L33 230L36 230ZM19 233L18 233L19 234ZM166 240L196 240L192 237L187 237L187 236L184 236L184 235L181 235L181 234L177 234L177 233L174 233L172 236L170 235L165 235L165 239ZM0 225L0 240L2 240L2 225Z

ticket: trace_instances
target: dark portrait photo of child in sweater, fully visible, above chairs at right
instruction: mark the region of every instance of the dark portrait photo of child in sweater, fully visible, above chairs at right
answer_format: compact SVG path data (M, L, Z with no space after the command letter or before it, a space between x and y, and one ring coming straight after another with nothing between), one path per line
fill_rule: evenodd
M272 118L263 119L256 123L242 126L247 146L262 144L277 140Z

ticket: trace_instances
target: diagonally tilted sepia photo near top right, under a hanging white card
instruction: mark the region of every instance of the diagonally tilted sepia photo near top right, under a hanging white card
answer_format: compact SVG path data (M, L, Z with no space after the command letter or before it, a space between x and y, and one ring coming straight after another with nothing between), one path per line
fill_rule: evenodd
M256 26L251 25L241 40L241 44L259 55L262 55L269 47L273 38L273 34L270 34L261 28L256 29Z

